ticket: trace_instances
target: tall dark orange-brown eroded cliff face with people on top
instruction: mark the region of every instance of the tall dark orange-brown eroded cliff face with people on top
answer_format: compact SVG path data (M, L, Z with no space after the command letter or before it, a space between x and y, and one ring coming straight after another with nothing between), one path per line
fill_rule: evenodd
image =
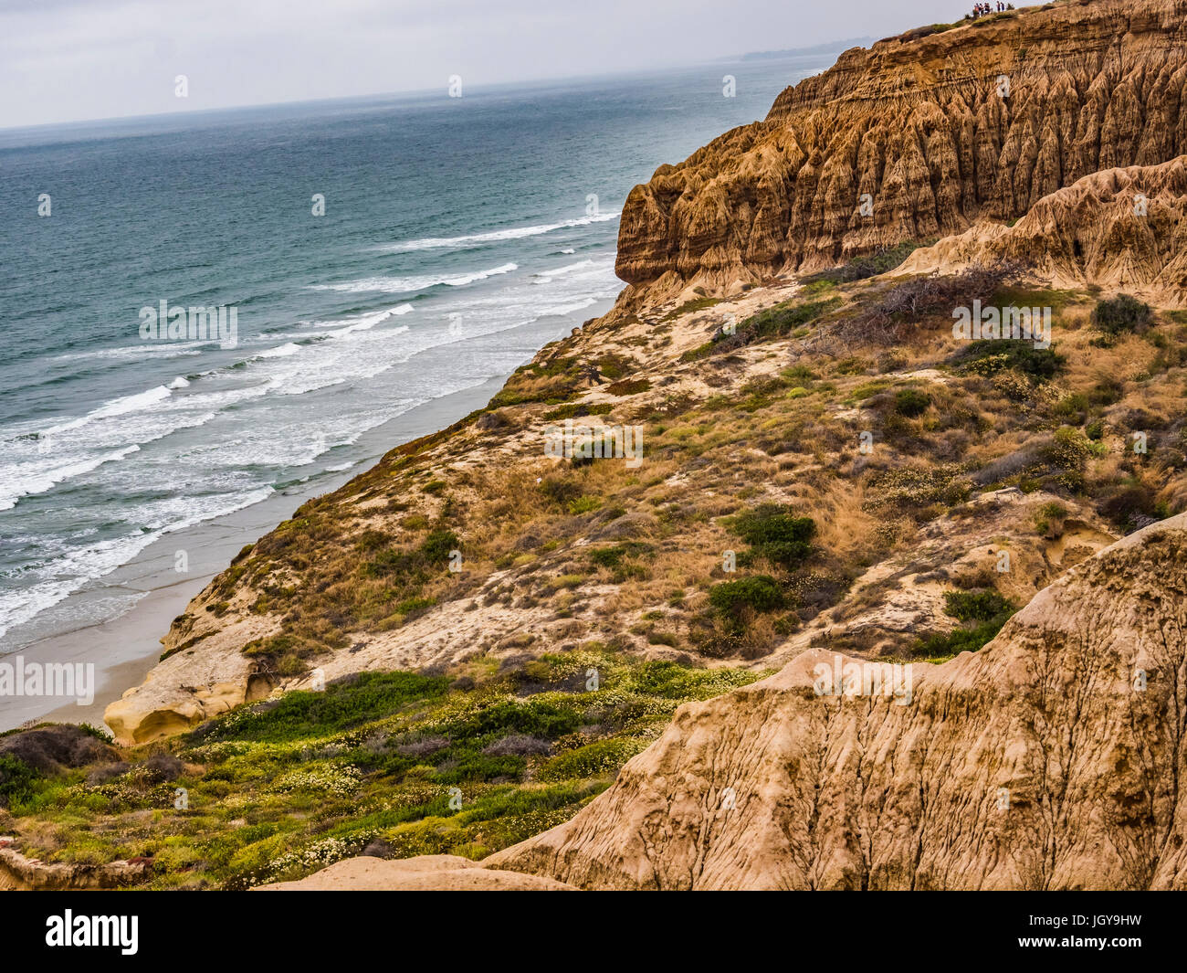
M635 187L616 270L729 291L1008 222L1098 170L1187 152L1185 84L1182 0L1048 4L853 49Z

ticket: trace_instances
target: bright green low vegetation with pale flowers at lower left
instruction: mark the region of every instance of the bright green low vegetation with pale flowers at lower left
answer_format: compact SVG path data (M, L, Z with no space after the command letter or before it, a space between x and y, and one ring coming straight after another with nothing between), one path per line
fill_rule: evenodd
M0 828L45 861L150 859L153 889L242 889L363 852L477 859L576 814L683 702L758 675L592 643L360 674L167 744L100 745L78 766L38 770L0 747Z

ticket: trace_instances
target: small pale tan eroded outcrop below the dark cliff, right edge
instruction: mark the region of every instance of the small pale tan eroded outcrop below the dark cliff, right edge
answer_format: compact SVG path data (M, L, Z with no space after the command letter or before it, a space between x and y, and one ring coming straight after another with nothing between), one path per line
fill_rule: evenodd
M1097 284L1161 307L1187 301L1187 156L1107 169L1041 198L1017 223L980 222L915 251L903 273L1013 260L1058 288Z

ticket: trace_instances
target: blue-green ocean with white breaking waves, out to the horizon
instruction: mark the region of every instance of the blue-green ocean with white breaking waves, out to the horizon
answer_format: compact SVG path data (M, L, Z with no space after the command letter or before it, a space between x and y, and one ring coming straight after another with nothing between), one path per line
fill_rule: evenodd
M0 131L0 652L603 314L630 188L833 59Z

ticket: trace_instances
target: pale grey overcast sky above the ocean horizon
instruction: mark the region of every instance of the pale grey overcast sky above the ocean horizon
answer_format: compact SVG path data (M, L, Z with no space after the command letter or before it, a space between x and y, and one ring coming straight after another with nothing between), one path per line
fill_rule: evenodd
M948 0L0 0L0 127L691 64L886 37ZM174 96L186 75L189 97Z

